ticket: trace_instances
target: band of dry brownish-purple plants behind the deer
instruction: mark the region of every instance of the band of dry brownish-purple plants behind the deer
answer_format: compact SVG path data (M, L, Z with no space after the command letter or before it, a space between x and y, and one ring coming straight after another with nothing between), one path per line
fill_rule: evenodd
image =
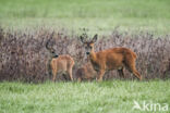
M51 76L48 71L50 55L45 48L52 32L3 32L0 30L0 80L44 81ZM82 43L75 34L54 30L53 45L58 54L71 54L77 67L87 62ZM112 47L126 47L137 54L137 70L145 79L170 78L170 36L155 37L148 33L129 35L117 29L110 36L100 36L96 51ZM125 71L126 78L133 76ZM105 79L119 78L117 71L109 72ZM61 76L59 79L63 79Z

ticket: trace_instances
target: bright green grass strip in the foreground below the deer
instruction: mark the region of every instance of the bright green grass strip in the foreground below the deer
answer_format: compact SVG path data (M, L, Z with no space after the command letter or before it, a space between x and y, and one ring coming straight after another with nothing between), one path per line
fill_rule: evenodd
M0 83L0 113L146 113L134 100L170 105L170 81Z

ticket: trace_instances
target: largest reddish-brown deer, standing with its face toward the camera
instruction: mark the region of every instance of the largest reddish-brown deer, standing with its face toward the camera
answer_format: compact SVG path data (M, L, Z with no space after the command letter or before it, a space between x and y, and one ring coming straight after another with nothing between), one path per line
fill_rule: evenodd
M98 72L97 80L101 81L106 71L118 70L119 75L124 77L123 68L126 67L139 80L141 74L136 71L135 60L136 54L127 48L111 48L95 52L94 43L97 41L97 35L90 41L85 40L87 35L83 34L81 41L83 42L86 54L88 55L94 70Z

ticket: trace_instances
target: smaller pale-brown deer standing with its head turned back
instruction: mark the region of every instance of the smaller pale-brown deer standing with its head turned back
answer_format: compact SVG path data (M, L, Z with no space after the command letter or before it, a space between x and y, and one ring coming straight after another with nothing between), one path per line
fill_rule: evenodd
M72 68L74 66L74 60L68 54L58 55L52 47L49 47L49 40L46 43L47 50L51 53L50 68L52 70L52 80L56 80L57 74L69 74L71 80L73 80Z

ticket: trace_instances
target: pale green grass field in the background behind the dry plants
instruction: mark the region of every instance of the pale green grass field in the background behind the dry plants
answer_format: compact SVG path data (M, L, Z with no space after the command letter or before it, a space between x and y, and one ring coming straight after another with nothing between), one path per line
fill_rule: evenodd
M0 0L0 24L23 29L39 26L110 33L170 32L170 0Z

